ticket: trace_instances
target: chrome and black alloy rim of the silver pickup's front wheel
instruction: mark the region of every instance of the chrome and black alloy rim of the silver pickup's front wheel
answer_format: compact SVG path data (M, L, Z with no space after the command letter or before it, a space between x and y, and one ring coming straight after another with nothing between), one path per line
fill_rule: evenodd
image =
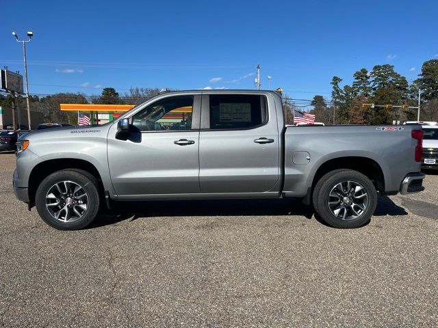
M75 222L87 211L88 194L76 182L60 181L47 191L46 208L59 221Z

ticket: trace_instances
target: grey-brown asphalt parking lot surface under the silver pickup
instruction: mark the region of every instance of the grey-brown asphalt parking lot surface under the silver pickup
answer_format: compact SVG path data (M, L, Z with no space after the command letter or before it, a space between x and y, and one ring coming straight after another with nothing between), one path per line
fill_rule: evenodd
M129 204L60 232L0 154L0 326L437 327L438 175L336 230L293 201Z

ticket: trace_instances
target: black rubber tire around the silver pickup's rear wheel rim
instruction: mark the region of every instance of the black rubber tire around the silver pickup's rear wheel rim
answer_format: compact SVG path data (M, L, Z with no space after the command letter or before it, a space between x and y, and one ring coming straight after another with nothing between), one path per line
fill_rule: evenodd
M364 206L364 204L360 204L362 207L365 207L365 209L357 217L355 217L354 213L352 212L351 206L348 205L355 204L355 200L353 200L352 203L345 203L344 205L343 197L330 196L333 189L339 185L339 183L347 181L360 184L360 186L363 187L363 189L359 189L361 190L360 193L366 193L368 196L366 206ZM339 189L336 189L335 193L337 193L338 190ZM348 193L348 195L351 195L351 193ZM346 197L347 194L344 196ZM329 201L336 202L337 198L339 198L339 203L334 204L332 205L334 207L331 207L331 205L329 205ZM356 202L363 202L363 200L356 200ZM313 189L313 208L315 208L315 212L325 223L333 228L350 229L364 226L370 221L371 216L376 210L376 206L377 191L374 187L374 184L372 184L371 180L367 176L352 169L336 169L325 174L322 176L322 178L320 178L320 180L318 180L315 185L315 189ZM337 207L345 207L347 215L351 214L352 218L342 219L342 215L340 215L340 213L342 212L344 214L344 210L340 210L338 212L339 216L335 215L333 208ZM360 211L360 207L358 208L357 206L353 206L353 209L356 213Z

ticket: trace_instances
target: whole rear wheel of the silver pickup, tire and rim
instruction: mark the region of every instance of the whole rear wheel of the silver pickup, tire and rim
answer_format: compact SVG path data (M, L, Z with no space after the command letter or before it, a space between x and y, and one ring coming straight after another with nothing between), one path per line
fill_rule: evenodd
M313 191L313 207L334 228L359 228L376 210L377 192L371 180L352 169L337 169L322 176Z

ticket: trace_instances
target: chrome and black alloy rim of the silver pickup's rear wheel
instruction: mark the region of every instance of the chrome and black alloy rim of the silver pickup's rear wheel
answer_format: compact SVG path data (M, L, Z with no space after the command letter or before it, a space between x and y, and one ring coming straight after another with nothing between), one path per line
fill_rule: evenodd
M335 185L329 194L331 213L344 221L357 219L368 206L368 193L357 181L343 181Z

